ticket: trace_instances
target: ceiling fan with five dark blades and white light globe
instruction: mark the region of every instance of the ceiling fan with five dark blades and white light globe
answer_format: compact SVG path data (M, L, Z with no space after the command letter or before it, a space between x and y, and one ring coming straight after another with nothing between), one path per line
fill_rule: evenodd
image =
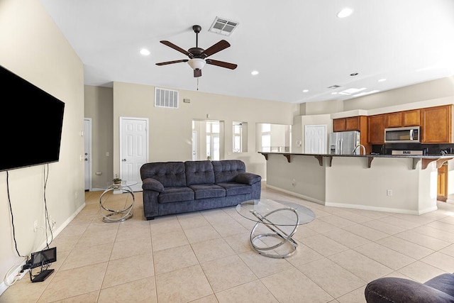
M171 43L170 41L167 40L162 40L160 43L165 44L169 46L170 48L173 48L174 50L178 50L180 53L184 53L184 55L187 55L189 59L183 59L183 60L175 60L175 61L167 61L167 62L160 62L156 63L156 65L168 65L168 64L173 64L173 63L179 63L179 62L187 62L190 67L192 67L192 70L194 70L194 77L201 77L201 69L204 68L205 64L211 64L211 65L216 65L220 67L225 67L230 70L235 70L238 65L233 64L233 63L228 63L228 62L223 62L223 61L218 61L218 60L213 60L213 59L207 59L207 57L214 55L221 50L224 50L228 47L230 47L230 43L228 43L226 40L221 40L218 43L212 45L211 47L207 48L204 50L203 48L199 48L199 33L201 31L201 26L192 26L192 30L194 30L194 33L196 33L196 47L195 48L189 48L189 50L183 50L182 48L179 48L177 45Z

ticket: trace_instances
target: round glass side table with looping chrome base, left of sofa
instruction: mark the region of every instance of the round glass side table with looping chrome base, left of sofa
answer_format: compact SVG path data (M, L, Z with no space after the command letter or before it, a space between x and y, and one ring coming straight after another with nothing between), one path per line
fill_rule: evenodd
M119 184L111 184L111 186L107 187L106 190L104 190L104 192L101 194L101 197L99 197L99 209L101 210L101 214L103 216L102 221L107 223L122 222L130 219L133 216L132 210L134 206L134 192L133 189L131 189L131 186L135 184L137 184L137 182L123 181ZM125 206L123 209L110 209L109 206L107 206L106 194L108 192L114 192L116 190L130 194L132 197L131 204L126 204L127 206Z

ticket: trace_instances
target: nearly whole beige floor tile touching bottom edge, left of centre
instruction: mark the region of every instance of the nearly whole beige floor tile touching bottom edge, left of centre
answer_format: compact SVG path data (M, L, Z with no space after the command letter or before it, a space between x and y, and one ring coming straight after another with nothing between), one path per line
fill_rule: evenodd
M158 274L158 302L190 302L213 294L200 265Z

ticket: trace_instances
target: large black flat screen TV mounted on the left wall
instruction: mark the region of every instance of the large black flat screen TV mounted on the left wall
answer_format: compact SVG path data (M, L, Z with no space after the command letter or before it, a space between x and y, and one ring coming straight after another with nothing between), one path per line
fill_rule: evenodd
M0 171L57 162L65 103L0 65Z

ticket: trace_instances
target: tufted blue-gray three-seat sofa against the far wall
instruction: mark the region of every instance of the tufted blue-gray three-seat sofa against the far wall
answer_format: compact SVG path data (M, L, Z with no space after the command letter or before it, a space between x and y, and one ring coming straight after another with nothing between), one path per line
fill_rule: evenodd
M262 177L245 172L240 160L150 162L140 177L147 220L260 199L262 189Z

